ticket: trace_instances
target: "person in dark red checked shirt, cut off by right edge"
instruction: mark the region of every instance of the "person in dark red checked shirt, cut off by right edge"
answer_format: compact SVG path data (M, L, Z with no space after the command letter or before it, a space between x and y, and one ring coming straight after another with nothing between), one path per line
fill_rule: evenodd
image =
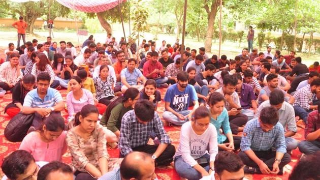
M299 150L306 155L320 151L320 103L318 109L309 113L303 140L299 143Z

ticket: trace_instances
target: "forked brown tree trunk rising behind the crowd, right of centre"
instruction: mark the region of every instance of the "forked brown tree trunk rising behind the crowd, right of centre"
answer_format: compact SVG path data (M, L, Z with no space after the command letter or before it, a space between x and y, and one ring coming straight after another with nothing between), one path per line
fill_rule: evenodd
M205 5L206 12L208 14L208 27L205 39L205 49L206 52L211 52L212 47L212 33L214 27L215 15L218 10L218 1L212 1L211 10L209 10L208 4Z

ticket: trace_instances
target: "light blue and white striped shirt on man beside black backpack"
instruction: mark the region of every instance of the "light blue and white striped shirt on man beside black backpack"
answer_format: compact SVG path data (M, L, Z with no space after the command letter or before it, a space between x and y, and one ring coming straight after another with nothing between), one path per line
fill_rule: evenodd
M23 106L50 108L58 102L63 101L61 94L54 88L49 87L46 96L41 99L38 95L38 88L31 90L24 98Z

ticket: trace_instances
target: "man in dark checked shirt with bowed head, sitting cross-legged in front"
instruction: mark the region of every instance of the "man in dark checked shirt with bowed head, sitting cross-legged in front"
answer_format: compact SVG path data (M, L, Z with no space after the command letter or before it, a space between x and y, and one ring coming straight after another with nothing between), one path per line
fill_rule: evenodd
M159 144L147 144L152 132L158 138ZM175 147L170 143L170 137L150 101L138 101L134 110L123 115L119 141L120 157L140 151L152 155L155 166L168 165L175 154Z

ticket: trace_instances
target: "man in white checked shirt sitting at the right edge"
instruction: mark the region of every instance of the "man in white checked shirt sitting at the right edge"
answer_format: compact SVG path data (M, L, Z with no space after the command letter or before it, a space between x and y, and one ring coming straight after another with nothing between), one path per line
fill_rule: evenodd
M309 112L318 108L317 105L313 105L312 98L313 95L318 95L320 93L320 78L317 78L311 82L311 84L299 89L294 95L296 99L293 107L295 109L296 115L300 116L305 123L307 123L307 118Z

